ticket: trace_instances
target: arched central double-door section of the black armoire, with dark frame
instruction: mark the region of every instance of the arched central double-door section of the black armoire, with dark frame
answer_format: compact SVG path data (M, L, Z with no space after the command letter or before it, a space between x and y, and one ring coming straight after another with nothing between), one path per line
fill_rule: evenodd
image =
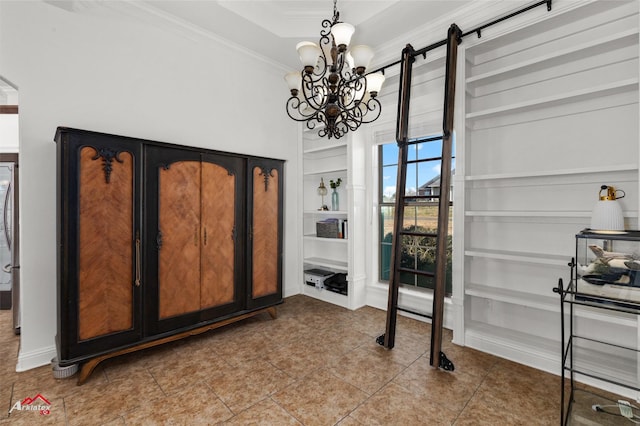
M147 334L245 308L245 168L236 156L145 150Z

